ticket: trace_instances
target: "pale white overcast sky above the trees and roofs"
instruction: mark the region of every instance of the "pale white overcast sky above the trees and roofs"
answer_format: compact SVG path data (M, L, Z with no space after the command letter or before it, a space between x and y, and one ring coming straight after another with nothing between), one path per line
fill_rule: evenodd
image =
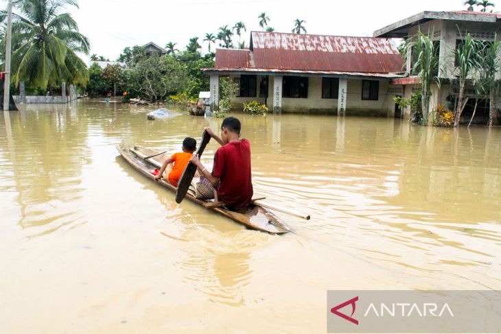
M490 0L501 11L501 0ZM5 0L1 1L5 3ZM68 8L80 32L91 41L91 54L116 60L124 47L169 42L183 49L198 36L207 52L206 33L242 21L247 32L261 30L257 16L266 12L275 32L290 32L295 19L305 20L308 34L373 36L386 25L424 10L463 10L464 0L79 0ZM235 35L235 39L237 40ZM236 44L236 43L235 43ZM213 47L213 46L212 46ZM88 61L88 56L82 56Z

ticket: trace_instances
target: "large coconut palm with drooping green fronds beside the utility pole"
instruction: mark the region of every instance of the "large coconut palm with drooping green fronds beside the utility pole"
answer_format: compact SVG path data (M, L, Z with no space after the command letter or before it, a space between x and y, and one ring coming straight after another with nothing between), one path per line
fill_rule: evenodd
M66 5L78 8L77 0L23 0L15 2L13 15L12 79L30 82L45 90L54 82L85 84L86 64L77 53L89 54L89 40L80 32Z

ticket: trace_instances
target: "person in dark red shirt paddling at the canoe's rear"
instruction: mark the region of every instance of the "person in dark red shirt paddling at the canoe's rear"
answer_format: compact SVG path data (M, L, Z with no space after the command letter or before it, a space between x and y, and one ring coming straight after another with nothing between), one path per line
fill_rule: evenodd
M253 184L250 176L250 143L240 140L240 121L226 117L221 125L221 137L211 128L206 128L220 147L214 155L212 173L194 155L191 162L198 167L200 184L213 187L218 192L218 200L229 208L240 209L247 206L253 198Z

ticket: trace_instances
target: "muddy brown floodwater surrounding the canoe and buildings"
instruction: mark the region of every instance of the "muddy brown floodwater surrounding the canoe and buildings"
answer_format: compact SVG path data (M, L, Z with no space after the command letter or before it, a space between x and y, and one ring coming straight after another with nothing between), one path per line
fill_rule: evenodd
M139 175L221 119L80 101L0 117L1 333L325 333L328 289L500 289L501 129L235 114L283 236ZM211 164L217 144L202 161Z

